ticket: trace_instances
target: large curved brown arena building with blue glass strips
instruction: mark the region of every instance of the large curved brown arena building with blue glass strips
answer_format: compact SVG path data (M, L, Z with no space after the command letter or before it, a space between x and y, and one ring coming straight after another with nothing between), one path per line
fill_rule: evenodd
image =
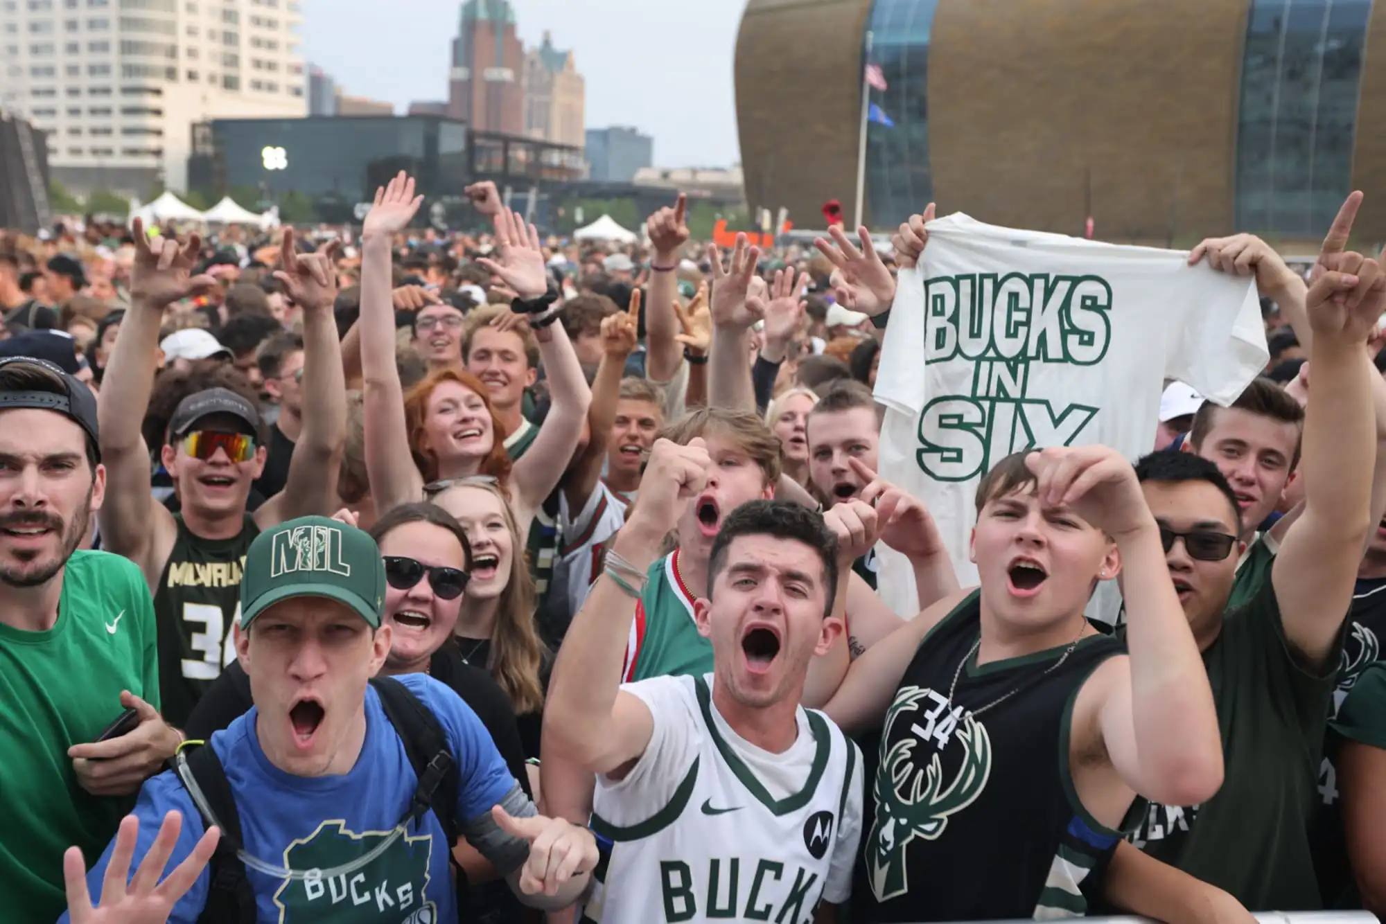
M870 53L866 55L868 35ZM1321 240L1350 190L1386 238L1386 4L1371 0L748 0L736 44L746 194L822 227L937 199L997 224L1189 245ZM805 87L812 91L805 93ZM1367 129L1367 123L1362 125Z

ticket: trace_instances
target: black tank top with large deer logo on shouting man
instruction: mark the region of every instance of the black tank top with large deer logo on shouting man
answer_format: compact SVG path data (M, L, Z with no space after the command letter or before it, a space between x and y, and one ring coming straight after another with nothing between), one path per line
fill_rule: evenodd
M1091 636L1067 658L1063 646L979 668L980 616L974 592L919 646L886 713L862 920L1077 917L1084 880L1116 849L1073 791L1069 722L1121 644Z

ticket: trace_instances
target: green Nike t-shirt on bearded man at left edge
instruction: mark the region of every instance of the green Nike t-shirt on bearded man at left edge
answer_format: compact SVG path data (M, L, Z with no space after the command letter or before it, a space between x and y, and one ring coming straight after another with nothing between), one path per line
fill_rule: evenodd
M55 921L62 852L93 863L133 808L80 788L68 748L121 715L122 690L159 707L157 637L140 569L104 551L68 560L53 629L0 625L0 918Z

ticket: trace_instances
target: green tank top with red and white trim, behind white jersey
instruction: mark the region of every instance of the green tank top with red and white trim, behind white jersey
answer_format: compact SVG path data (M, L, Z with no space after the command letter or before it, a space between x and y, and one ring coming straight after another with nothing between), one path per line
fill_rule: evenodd
M679 551L650 565L625 648L626 682L712 672L712 643L699 634L693 594L679 576Z

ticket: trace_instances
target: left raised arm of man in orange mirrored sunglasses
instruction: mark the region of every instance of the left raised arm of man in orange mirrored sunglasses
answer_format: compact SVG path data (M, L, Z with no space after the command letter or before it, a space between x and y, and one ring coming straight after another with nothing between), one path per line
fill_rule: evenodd
M159 238L151 248L140 219L134 219L133 234L130 310L121 324L97 399L105 463L105 501L97 518L107 551L134 561L152 586L177 535L173 515L150 490L150 447L140 434L154 391L159 327L164 309L216 285L216 280L193 276L202 247L195 234L182 247L173 238Z

